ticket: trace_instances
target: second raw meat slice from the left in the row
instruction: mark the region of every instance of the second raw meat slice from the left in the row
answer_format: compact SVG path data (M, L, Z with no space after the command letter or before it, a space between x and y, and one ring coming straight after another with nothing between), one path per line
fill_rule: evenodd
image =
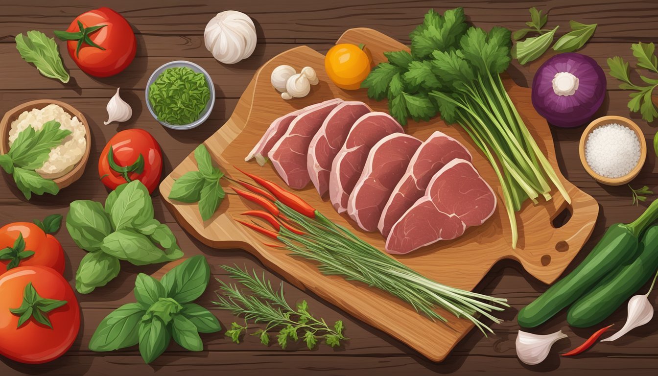
M306 168L309 144L327 115L342 101L324 101L317 107L306 110L295 117L288 130L267 153L274 169L293 189L301 189L311 181Z

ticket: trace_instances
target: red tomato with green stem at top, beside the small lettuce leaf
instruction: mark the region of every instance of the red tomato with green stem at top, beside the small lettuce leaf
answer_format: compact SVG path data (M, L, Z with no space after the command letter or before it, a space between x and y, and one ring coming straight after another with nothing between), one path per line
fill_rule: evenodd
M66 32L56 31L55 36L66 40L68 54L78 67L96 77L121 72L137 52L137 39L126 18L105 7L80 14Z

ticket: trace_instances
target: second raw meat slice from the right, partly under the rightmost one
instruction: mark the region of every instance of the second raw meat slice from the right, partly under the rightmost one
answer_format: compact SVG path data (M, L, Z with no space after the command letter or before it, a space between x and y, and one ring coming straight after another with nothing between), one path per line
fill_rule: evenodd
M432 176L446 163L457 158L472 161L468 150L447 134L436 131L422 143L411 157L405 175L397 183L393 194L384 206L382 217L377 225L379 232L384 237L388 236L391 227L405 211L425 194L425 189L430 184Z

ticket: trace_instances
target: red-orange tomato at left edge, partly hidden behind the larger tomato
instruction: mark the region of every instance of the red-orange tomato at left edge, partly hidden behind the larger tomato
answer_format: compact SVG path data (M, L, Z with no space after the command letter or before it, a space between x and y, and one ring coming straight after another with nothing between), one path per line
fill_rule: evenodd
M16 247L18 236L22 235L25 246L20 249ZM55 236L46 234L34 223L16 222L0 228L0 250L10 248L9 259L0 259L0 275L7 269L13 259L18 262L17 266L43 265L51 267L59 274L64 274L64 250ZM34 254L22 257L21 251L32 251ZM0 251L1 252L1 251Z

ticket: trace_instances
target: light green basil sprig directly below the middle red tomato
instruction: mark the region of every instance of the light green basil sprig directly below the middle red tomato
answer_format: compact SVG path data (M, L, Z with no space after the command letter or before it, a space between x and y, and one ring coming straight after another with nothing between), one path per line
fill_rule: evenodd
M105 208L97 201L73 201L66 229L78 247L89 252L76 273L81 294L112 281L119 273L119 260L147 265L183 257L171 229L153 218L153 201L139 180L110 192Z

